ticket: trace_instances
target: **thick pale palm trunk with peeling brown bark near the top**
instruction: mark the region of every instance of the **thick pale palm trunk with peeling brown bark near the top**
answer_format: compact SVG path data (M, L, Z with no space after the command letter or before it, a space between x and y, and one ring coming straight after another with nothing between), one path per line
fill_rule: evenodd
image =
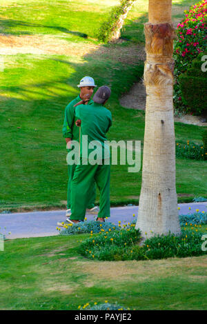
M145 24L146 120L139 214L136 228L144 239L155 234L180 234L175 188L173 117L172 0L149 0Z

